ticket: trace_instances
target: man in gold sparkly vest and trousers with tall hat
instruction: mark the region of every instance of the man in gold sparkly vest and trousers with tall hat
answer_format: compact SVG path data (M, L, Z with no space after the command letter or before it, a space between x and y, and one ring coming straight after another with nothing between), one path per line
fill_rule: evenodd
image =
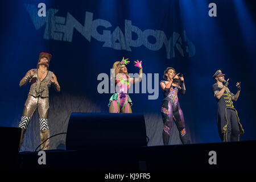
M52 55L46 52L41 52L39 55L37 69L31 69L20 80L19 86L24 86L30 82L30 92L28 93L27 101L24 105L22 118L19 122L19 127L22 129L20 137L19 150L22 147L24 135L28 124L34 114L35 109L38 109L40 123L40 142L44 142L49 138L48 127L48 110L49 110L49 87L51 84L55 86L57 92L60 92L60 85L53 72L49 71L49 61ZM49 149L49 140L41 145L42 150Z

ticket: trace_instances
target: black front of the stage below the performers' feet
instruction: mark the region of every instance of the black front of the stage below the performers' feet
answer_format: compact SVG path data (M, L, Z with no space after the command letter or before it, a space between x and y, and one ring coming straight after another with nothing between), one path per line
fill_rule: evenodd
M46 164L39 164L38 152L20 152L11 169L85 171L254 171L256 141L185 144L137 148L46 151ZM216 164L209 164L210 151ZM6 156L11 158L11 156ZM1 166L3 168L3 166Z

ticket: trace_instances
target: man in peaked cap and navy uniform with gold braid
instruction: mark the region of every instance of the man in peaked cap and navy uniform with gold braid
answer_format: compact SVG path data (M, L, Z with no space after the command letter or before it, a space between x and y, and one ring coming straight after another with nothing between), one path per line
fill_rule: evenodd
M213 75L213 79L216 80L212 85L212 91L217 101L218 133L223 142L239 141L245 131L238 118L237 110L234 109L233 101L237 101L239 97L241 82L237 82L238 91L233 94L228 88L229 79L225 80L224 76L220 69Z

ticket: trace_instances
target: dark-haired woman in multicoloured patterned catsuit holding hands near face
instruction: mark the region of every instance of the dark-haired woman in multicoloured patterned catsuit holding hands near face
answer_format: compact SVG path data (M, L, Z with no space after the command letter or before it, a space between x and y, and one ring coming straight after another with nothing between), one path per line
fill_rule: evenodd
M180 73L179 73L180 74ZM162 101L161 113L164 123L163 143L169 144L172 119L174 119L177 129L179 130L180 140L183 144L187 143L187 135L185 130L183 111L180 109L178 93L185 94L185 84L183 75L176 75L174 68L168 67L164 71L164 79L160 81L160 86L164 94Z

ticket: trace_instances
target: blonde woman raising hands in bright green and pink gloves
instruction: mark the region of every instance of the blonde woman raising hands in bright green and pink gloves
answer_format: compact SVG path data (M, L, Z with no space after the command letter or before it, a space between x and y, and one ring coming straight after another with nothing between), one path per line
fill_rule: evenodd
M131 84L140 82L142 79L142 61L134 61L135 67L139 68L139 77L130 78L127 72L126 65L130 63L127 59L116 61L113 64L113 75L111 79L115 79L115 93L109 99L109 113L132 113L131 98L128 94L128 90Z

